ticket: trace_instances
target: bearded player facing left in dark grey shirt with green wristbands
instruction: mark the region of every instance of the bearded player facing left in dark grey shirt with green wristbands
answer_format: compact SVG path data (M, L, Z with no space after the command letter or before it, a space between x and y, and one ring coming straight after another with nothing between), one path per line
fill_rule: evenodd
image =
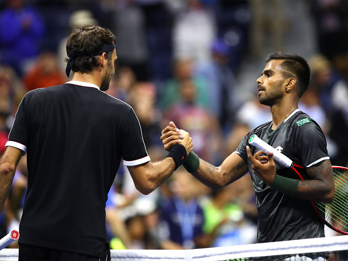
M221 166L212 166L193 152L183 166L212 189L220 189L247 172L251 174L258 208L258 243L324 237L324 224L309 201L333 200L332 167L321 128L298 109L299 98L309 85L310 69L306 60L296 54L271 53L266 61L257 84L259 102L270 106L272 121L248 133ZM175 127L173 122L170 126ZM289 170L282 169L271 153L261 155L249 146L253 134L296 164L306 166L307 180L299 181ZM171 145L167 142L163 139L169 150ZM312 259L326 260L325 253L313 253Z

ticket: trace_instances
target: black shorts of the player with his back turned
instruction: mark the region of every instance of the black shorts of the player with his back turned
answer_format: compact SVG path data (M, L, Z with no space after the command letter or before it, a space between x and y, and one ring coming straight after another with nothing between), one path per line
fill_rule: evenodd
M18 250L18 260L111 260L110 250L107 250L103 256L92 256L92 255L84 255L60 250L54 250L46 247L40 246L32 246L26 244L19 244Z

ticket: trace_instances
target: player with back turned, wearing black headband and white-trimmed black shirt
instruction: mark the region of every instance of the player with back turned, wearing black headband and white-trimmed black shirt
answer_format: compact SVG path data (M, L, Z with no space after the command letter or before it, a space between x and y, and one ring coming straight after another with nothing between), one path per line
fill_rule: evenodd
M0 160L0 211L27 153L28 189L19 225L19 260L110 260L105 202L121 158L148 194L192 151L188 133L167 127L175 144L152 163L128 104L102 92L114 74L114 35L100 26L72 30L72 81L27 93Z

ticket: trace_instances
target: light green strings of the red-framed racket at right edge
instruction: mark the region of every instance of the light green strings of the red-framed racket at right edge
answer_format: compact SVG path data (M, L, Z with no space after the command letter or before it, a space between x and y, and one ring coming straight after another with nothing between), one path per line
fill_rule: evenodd
M348 231L348 177L346 169L333 169L335 196L332 203L316 202L317 208L321 211L325 220L332 226Z

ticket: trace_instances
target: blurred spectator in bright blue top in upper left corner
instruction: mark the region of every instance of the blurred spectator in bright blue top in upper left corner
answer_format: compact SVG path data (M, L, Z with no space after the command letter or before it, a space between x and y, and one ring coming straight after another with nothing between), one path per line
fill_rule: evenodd
M27 70L40 52L45 25L40 14L22 0L7 1L0 14L1 62L20 74Z

